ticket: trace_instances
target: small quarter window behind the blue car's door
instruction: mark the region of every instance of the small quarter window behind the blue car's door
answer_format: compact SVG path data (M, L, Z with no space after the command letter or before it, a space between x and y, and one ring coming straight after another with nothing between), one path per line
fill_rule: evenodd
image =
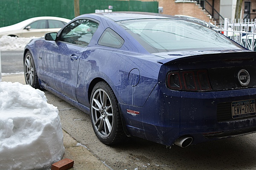
M121 48L124 44L124 40L111 28L105 29L102 36L99 38L99 45L104 45L107 47Z

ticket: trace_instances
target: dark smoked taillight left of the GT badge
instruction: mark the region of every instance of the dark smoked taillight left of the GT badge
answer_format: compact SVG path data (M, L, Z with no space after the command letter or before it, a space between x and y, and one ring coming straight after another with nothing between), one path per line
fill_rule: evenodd
M212 91L207 70L169 72L166 86L180 91Z

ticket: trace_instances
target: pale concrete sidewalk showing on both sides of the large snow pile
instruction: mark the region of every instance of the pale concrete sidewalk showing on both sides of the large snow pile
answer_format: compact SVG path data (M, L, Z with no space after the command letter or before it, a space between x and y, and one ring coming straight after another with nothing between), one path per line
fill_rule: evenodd
M25 78L23 74L17 74L17 75L4 75L2 76L2 81L5 82L20 82L21 84L25 83ZM70 136L68 133L66 133L64 130L63 136L64 136L64 158L72 159L74 161L73 168L70 168L70 170L109 170L102 161L96 158L92 153L90 153L90 150L88 150L84 146L77 146L78 142L76 139L74 139L72 136Z

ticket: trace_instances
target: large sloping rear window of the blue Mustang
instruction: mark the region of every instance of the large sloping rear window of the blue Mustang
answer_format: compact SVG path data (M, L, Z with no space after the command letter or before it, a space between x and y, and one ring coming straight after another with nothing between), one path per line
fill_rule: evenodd
M243 49L211 28L186 20L141 19L117 23L150 53Z

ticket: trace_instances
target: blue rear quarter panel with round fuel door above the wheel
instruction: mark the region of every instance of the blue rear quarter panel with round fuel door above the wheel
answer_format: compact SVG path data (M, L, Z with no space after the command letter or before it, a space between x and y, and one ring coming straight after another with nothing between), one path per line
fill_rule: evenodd
M101 48L85 51L79 62L78 101L89 106L90 83L101 78L111 86L119 103L143 106L157 84L160 64L138 56L143 54Z

